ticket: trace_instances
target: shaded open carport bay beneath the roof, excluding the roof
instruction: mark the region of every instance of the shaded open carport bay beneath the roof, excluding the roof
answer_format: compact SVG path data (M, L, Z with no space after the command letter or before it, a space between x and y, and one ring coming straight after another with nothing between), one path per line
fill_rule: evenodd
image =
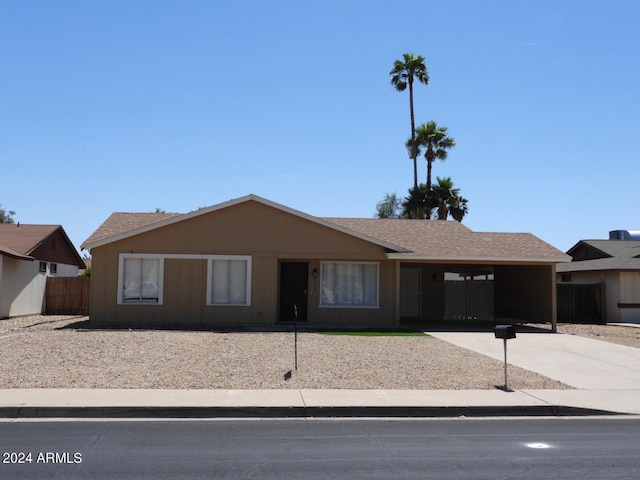
M555 263L399 262L399 323L551 323Z

